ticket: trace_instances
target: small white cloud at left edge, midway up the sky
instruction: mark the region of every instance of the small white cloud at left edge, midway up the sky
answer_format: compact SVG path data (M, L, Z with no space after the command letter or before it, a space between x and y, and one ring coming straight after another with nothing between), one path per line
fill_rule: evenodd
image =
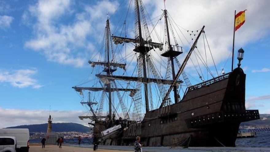
M34 89L41 88L37 80L32 78L37 74L37 69L19 69L19 70L0 70L0 83L10 83L17 88L31 86Z

